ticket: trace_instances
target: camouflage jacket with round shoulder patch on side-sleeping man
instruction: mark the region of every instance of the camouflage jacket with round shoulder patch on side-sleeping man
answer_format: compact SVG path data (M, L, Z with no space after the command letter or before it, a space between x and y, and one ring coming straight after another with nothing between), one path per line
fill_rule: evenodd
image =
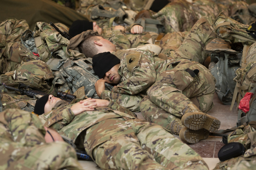
M157 74L171 70L172 64L188 63L186 59L163 60L149 50L128 51L121 58L118 73L122 76L120 84L112 92L103 90L102 96L112 93L146 96L148 88L154 84ZM171 85L176 88L175 84Z

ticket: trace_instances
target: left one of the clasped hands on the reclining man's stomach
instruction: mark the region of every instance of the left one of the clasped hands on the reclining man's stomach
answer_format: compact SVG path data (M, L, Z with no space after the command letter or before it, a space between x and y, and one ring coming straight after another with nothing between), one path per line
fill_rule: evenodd
M96 106L96 100L92 98L88 98L86 100L82 100L76 104L74 104L70 109L74 113L74 115L79 115L83 111L92 111L94 108L90 108L92 106Z

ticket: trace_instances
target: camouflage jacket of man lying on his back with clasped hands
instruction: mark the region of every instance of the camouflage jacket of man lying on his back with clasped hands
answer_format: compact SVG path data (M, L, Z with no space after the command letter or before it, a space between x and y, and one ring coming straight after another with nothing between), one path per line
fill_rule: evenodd
M76 100L76 102L78 101ZM72 106L73 104L54 107L52 111L40 115L39 118L44 126L53 127L60 135L65 135L72 139L73 142L76 141L82 131L100 121L117 117L136 118L134 113L112 100L110 100L108 107L98 107L94 111L84 111L76 116L70 109Z

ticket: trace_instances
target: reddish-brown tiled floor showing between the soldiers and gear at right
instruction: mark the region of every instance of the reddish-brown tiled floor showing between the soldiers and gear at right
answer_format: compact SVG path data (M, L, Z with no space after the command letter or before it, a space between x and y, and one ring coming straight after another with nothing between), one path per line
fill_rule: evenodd
M221 121L220 129L228 129L236 125L237 111L236 104L230 111L230 106L223 105L218 96L214 95L214 104L215 106L208 112L209 115L212 115ZM137 113L139 119L144 119L141 113ZM178 135L175 135L179 138ZM202 140L199 143L189 145L194 149L204 161L208 164L210 170L212 170L216 164L219 162L218 151L221 147L224 146L222 143L222 137L208 137L208 139ZM85 170L100 170L99 167L94 162L89 161L80 161L81 165Z

